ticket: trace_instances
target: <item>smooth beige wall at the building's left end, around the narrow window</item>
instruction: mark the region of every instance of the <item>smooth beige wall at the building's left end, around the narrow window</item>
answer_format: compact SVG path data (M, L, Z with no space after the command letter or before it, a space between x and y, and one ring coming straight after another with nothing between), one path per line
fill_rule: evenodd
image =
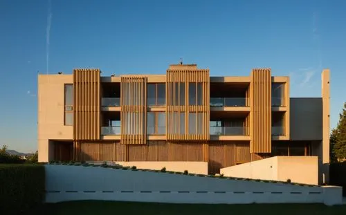
M48 140L72 140L73 127L64 126L64 84L72 84L72 75L39 75L37 90L37 144L39 162L53 157Z

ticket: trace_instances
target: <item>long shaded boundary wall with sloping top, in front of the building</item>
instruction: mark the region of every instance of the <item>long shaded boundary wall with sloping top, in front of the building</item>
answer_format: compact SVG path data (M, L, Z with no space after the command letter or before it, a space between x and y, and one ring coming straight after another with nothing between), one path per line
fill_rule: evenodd
M46 203L119 200L156 203L343 203L341 187L302 187L226 178L46 165Z

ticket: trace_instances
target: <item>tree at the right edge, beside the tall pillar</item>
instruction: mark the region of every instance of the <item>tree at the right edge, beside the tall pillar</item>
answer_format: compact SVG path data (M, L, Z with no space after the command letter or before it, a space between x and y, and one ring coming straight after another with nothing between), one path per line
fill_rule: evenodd
M331 160L343 161L346 158L346 102L340 113L338 125L331 131L330 136Z

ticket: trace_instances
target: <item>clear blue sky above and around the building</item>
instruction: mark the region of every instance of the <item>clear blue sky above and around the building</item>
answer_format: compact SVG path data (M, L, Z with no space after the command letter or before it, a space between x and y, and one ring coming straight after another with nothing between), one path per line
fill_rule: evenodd
M271 67L291 76L291 97L320 97L320 72L330 68L335 127L346 102L345 8L343 0L1 0L0 145L37 149L38 72L164 74L181 57L214 76Z

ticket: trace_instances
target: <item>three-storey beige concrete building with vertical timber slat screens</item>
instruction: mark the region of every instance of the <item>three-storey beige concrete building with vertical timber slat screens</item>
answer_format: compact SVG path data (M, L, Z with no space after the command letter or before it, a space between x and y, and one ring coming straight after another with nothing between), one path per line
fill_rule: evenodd
M165 75L39 75L38 148L40 162L209 174L273 156L318 156L319 183L326 183L329 70L315 98L290 97L289 77L270 68L245 77L210 77L195 64L170 65Z

